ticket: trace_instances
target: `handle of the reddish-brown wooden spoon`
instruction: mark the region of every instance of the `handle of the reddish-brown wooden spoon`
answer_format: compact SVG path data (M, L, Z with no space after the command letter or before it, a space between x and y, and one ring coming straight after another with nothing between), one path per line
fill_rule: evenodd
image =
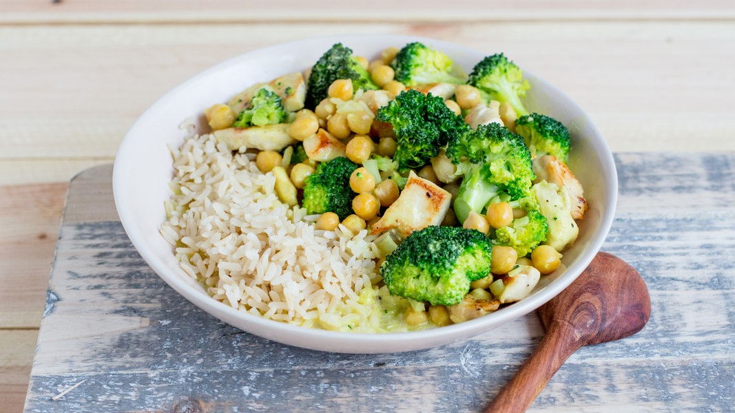
M579 340L569 323L550 323L534 353L495 396L485 412L526 412L556 370L582 345L583 340Z

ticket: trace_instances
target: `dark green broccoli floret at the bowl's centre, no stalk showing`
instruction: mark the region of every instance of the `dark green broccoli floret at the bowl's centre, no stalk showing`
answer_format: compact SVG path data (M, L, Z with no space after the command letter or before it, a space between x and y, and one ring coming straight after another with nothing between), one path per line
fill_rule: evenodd
M393 127L398 143L393 159L399 170L421 168L455 134L470 129L441 97L412 89L399 93L395 100L378 109L376 118Z

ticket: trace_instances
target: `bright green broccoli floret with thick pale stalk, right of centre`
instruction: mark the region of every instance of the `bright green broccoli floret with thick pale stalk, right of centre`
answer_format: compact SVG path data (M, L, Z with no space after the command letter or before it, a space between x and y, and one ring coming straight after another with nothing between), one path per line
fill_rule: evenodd
M462 176L454 199L454 213L464 222L474 211L481 214L492 198L509 195L517 200L531 195L536 175L523 137L498 123L480 125L450 140L447 156Z

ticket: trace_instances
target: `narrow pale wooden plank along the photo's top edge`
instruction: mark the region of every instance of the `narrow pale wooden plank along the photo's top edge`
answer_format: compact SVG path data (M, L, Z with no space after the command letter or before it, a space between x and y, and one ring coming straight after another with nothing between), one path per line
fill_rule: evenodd
M308 18L313 21L503 21L508 19L607 20L628 19L722 19L733 17L731 4L723 0L691 1L594 1L553 0L539 3L519 0L349 2L334 7L323 1L43 1L6 0L0 21L10 23L93 21L282 21Z

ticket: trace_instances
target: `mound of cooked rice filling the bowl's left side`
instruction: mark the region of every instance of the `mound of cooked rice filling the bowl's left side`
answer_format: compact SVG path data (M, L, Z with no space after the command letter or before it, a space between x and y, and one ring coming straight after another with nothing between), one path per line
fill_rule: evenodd
M175 176L161 233L186 273L243 312L315 328L376 331L380 311L374 237L279 202L272 173L232 154L211 134L171 148Z

